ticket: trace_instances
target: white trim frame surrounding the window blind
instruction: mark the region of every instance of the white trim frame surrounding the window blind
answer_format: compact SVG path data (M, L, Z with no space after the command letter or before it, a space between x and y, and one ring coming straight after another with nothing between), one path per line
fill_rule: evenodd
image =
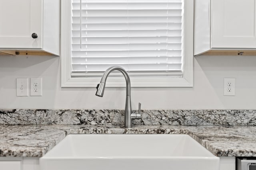
M100 77L71 77L71 11L70 0L61 1L61 87L96 87ZM183 77L130 77L132 87L193 87L194 1L184 0L184 63ZM109 77L106 87L125 87L122 77Z

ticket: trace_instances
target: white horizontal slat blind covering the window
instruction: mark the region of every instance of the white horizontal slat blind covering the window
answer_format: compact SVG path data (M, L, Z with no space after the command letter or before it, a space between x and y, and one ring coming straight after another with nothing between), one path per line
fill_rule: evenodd
M113 65L182 76L183 6L183 0L72 0L71 76Z

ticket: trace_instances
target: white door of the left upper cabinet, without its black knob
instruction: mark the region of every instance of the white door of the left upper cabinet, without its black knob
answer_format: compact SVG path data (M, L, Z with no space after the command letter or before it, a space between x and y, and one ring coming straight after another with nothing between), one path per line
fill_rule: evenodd
M42 0L0 0L0 48L42 48L41 27Z

